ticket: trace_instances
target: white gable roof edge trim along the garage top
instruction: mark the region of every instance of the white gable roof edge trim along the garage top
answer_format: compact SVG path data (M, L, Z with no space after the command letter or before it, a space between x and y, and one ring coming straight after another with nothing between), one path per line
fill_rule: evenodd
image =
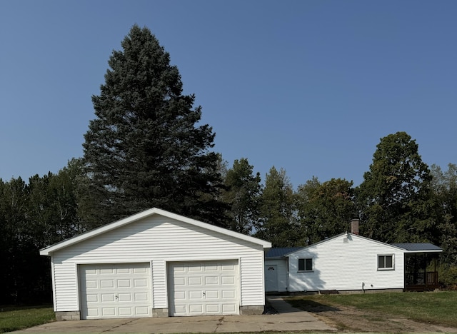
M234 232L227 230L226 228L220 228L219 226L214 226L209 223L203 223L201 221L196 221L195 219L187 218L184 216L177 215L176 213L171 213L169 211L164 211L159 208L151 208L146 211L141 211L140 213L136 213L133 216L126 217L124 219L121 219L120 221L115 221L114 223L109 223L105 226L101 226L99 228L95 228L94 230L88 231L86 233L80 234L79 236L75 236L73 238L66 239L64 241L61 241L60 243L55 243L54 245L48 246L46 248L42 248L40 250L41 255L46 255L50 256L51 253L55 251L59 251L62 248L66 248L68 246L74 245L76 243L79 243L81 241L85 241L89 238L94 238L95 236L99 236L103 233L106 233L108 231L112 231L116 228L120 228L122 226L126 226L129 223L134 223L135 221L139 221L140 219L149 217L149 216L154 216L154 215L159 215L159 216L164 216L167 218L174 219L176 221L181 221L183 223L188 223L193 226L199 226L201 228L206 228L209 231L214 231L217 233L224 234L226 236L231 236L233 238L238 238L243 241L248 241L250 243L255 243L257 245L262 246L263 248L271 248L271 243L268 241L263 241L258 238L253 238L251 236L246 236L244 234Z

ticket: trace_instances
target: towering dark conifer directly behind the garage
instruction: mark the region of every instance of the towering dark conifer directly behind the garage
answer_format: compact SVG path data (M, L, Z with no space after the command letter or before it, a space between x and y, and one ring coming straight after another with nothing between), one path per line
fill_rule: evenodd
M197 125L201 107L182 93L177 67L149 29L133 26L121 46L92 97L86 219L96 226L154 206L218 224L221 176L212 128Z

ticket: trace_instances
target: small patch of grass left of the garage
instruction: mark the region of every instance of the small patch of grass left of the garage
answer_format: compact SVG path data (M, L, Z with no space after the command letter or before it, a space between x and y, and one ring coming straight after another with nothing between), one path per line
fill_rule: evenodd
M54 310L46 306L0 306L0 333L29 328L56 320Z

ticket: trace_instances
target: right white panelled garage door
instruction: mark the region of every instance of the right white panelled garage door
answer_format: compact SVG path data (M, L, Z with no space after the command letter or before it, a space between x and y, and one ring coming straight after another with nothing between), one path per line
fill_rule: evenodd
M169 263L171 316L239 313L238 260Z

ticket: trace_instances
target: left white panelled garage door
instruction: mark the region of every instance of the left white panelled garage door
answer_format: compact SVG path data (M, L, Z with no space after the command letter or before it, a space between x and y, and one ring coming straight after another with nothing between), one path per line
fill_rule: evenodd
M151 316L149 263L80 265L81 318Z

